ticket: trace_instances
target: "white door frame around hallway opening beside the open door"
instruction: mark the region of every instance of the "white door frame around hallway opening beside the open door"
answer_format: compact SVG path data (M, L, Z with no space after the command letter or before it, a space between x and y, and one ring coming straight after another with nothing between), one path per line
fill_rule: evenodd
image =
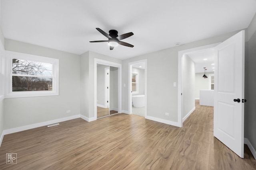
M201 46L201 47L196 47L196 48L192 48L192 49L186 49L186 50L178 51L178 122L177 122L178 127L182 127L183 126L183 121L185 121L185 119L182 120L183 119L182 57L183 57L183 55L185 55L187 53L194 52L194 51L213 49L218 44L220 44L220 43L214 43L214 44L210 44L210 45L204 45L204 46Z

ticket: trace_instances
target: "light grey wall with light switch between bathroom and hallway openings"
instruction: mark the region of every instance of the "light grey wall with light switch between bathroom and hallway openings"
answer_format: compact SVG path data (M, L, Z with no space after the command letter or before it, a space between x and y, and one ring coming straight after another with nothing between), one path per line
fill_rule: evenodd
M178 122L177 98L180 94L178 84L173 86L174 82L178 82L178 51L220 43L239 31L123 60L122 85L128 84L128 63L147 59L147 115L170 124ZM128 94L128 86L123 86L122 109L127 112ZM166 112L169 116L165 115Z

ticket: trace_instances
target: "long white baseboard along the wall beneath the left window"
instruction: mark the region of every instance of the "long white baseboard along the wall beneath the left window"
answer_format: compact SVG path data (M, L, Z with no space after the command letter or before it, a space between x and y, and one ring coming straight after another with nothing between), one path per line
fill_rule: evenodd
M28 129L34 129L36 127L42 127L42 126L51 125L51 124L54 124L54 123L59 123L59 122L62 122L62 121L68 121L68 120L77 119L77 118L80 118L80 115L63 117L63 118L60 118L60 119L44 121L44 122L35 123L35 124L32 124L32 125L15 127L15 128L12 128L12 129L4 130L3 133L4 133L4 135L7 135L7 134L10 134L10 133L16 133L16 132L25 131L25 130L28 130Z

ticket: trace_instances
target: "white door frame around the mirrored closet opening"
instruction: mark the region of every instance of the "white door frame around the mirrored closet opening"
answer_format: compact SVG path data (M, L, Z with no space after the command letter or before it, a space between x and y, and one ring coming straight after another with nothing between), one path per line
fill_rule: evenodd
M94 58L94 120L97 119L97 64L118 68L118 113L122 112L122 64Z

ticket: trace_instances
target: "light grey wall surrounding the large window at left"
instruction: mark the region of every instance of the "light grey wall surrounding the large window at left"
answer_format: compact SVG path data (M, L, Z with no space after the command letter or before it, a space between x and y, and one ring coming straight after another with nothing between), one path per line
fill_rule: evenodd
M59 59L60 85L59 96L4 99L4 129L80 114L79 55L10 39L5 39L5 49Z

